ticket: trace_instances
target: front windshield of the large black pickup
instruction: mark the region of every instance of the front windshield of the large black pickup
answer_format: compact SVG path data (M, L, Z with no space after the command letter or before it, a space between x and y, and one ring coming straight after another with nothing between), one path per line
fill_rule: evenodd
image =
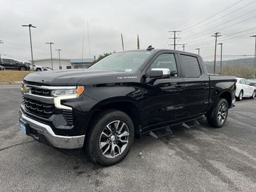
M151 56L153 51L129 51L121 53L113 53L112 55L103 58L94 65L91 69L97 70L114 70L120 72L131 72L138 69L142 63Z

